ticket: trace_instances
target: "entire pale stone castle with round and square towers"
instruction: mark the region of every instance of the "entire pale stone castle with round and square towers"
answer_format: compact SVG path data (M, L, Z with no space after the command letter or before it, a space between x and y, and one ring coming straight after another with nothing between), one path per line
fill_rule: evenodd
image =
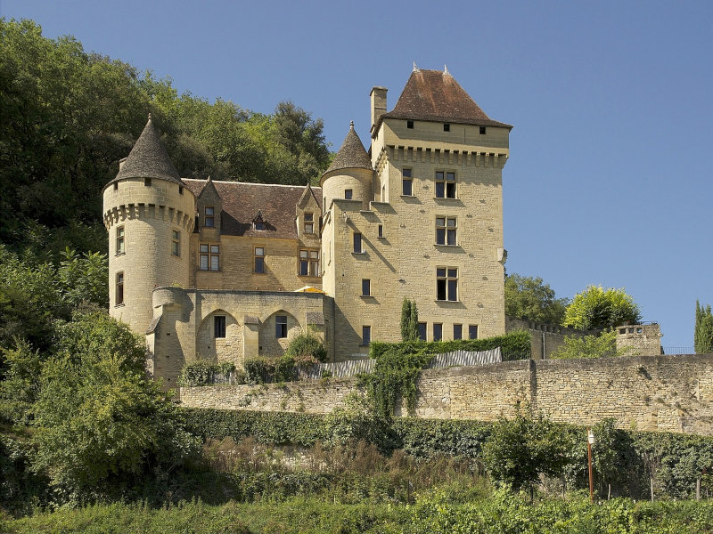
M321 188L182 179L149 117L103 189L110 312L145 334L171 387L186 362L281 355L303 330L332 361L400 340L505 331L502 169L511 125L447 70L416 69L396 106L371 92Z

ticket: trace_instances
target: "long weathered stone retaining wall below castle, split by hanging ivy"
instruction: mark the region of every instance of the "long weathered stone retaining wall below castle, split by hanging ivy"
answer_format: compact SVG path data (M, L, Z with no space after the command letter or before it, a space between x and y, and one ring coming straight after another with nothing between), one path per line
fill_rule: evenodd
M713 355L520 360L423 371L415 417L493 421L518 404L553 421L713 435ZM356 380L182 388L186 407L304 411L340 406ZM363 392L362 392L363 393ZM397 415L404 415L397 409Z

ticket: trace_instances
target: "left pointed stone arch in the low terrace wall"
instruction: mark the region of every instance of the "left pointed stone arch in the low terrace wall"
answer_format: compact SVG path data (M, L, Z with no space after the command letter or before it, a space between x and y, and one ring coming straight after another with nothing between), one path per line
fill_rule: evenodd
M225 317L225 337L215 336L215 317ZM196 357L216 363L230 361L242 367L242 325L221 308L210 312L201 321L196 336Z

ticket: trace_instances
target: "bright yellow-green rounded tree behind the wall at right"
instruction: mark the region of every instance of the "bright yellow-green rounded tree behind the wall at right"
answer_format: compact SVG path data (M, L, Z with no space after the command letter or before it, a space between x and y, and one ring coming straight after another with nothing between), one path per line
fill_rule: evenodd
M574 295L572 302L567 306L562 325L581 330L594 330L636 323L639 320L641 320L639 307L624 289L588 286L585 291Z

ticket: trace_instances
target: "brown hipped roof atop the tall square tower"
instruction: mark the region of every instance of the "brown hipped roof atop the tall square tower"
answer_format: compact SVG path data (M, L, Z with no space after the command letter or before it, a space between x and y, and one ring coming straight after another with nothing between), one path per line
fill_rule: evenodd
M381 124L382 118L512 128L512 125L488 117L449 72L440 70L414 69L396 106L381 115L377 126Z

